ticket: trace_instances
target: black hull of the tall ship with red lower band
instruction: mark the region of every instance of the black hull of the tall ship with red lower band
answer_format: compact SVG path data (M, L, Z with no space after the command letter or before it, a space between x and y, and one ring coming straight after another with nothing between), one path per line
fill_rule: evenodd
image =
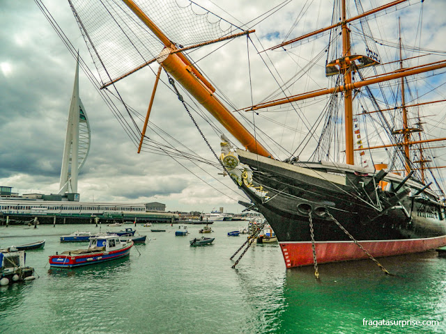
M252 184L240 188L275 231L287 267L314 261L310 219L319 263L367 257L353 240L374 256L446 244L445 207L423 184L353 166L295 166L238 153L253 170Z

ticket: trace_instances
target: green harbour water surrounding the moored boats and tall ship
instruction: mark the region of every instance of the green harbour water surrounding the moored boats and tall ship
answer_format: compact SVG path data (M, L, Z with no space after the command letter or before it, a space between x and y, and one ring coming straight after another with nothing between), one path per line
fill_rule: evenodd
M49 270L59 235L94 225L0 227L0 246L46 239L26 252L39 278L0 287L0 333L445 333L446 258L435 251L285 269L278 245L252 246L238 269L229 257L245 237L227 237L243 222L219 222L214 244L190 247L187 237L137 226L151 241L130 257L77 269ZM130 225L127 225L130 226ZM119 228L108 228L118 230ZM102 231L105 227L102 227ZM40 237L42 236L42 237ZM439 321L437 326L364 326L363 319Z

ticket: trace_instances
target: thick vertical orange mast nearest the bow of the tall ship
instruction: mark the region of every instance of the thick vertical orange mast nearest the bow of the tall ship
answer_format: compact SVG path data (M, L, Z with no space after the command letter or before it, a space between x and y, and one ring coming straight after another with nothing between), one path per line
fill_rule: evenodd
M342 29L342 57L341 73L344 74L344 86L351 84L351 55L350 47L350 30L347 27L346 17L346 0L341 0L341 29ZM342 58L341 58L342 59ZM344 126L346 136L346 164L354 165L355 158L353 156L353 106L351 90L344 92Z

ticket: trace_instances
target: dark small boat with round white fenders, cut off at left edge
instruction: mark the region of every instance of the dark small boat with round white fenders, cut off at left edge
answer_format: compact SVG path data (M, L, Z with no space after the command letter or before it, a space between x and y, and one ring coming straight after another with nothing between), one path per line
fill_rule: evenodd
M0 250L0 285L33 280L34 268L25 266L24 250Z

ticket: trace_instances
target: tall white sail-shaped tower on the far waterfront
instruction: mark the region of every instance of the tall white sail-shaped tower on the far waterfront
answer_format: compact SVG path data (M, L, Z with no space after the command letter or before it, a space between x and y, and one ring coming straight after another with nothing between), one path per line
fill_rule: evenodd
M90 151L90 124L79 98L79 56L77 56L75 86L72 89L68 113L65 148L63 149L59 194L77 193L77 175Z

